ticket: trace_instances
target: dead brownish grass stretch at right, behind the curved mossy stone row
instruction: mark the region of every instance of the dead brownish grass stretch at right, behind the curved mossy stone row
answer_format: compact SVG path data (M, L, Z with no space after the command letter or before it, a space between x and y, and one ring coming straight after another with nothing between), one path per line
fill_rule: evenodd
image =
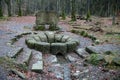
M71 30L75 29L78 31L86 31L89 35L95 36L102 43L120 44L120 25L111 25L111 21L111 18L94 18L92 22L77 20L76 22L68 21L68 24L72 26ZM100 24L95 25L95 23L97 22L99 22ZM89 30L92 27L98 26L103 30L103 32L94 32ZM107 33L113 34L108 35Z

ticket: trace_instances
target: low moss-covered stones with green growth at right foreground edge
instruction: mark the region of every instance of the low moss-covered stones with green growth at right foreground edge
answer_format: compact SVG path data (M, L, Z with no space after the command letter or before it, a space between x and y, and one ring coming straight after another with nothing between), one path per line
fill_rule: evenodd
M120 55L110 51L103 54L91 54L87 58L87 62L110 69L120 69Z

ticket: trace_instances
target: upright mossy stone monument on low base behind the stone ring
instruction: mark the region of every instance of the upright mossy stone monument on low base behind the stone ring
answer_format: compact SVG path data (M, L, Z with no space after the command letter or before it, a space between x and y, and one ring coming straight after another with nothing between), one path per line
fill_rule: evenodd
M56 30L58 15L55 11L38 11L36 13L36 30Z

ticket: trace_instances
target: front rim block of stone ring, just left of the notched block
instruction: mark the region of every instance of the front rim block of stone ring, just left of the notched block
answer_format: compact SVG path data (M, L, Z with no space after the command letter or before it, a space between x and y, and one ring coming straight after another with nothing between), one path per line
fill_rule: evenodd
M50 43L47 42L37 42L35 44L35 49L43 53L50 53Z

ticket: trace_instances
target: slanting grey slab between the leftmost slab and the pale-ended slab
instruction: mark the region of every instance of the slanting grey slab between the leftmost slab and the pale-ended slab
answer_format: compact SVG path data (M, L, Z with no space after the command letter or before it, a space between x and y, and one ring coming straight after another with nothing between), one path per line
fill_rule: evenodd
M24 50L24 52L22 52L20 55L17 56L16 61L19 64L25 63L26 65L28 65L29 61L31 59L31 56L32 56L32 51L27 49L27 50Z

